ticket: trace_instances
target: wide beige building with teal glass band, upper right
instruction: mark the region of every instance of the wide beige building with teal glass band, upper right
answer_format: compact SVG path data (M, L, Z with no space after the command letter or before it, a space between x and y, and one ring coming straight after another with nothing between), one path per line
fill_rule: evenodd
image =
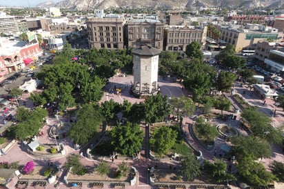
M239 28L239 26L238 28L232 26L217 26L217 28L221 31L220 39L225 43L234 45L236 52L241 52L242 50L254 50L256 48L256 43L263 39L281 42L284 37L283 32L278 32L275 28L245 29Z

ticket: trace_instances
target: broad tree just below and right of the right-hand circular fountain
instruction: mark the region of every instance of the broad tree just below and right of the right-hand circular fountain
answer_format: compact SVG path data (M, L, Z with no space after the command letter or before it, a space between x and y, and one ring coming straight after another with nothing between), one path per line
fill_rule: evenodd
M238 136L232 137L231 141L233 144L232 152L237 158L242 157L247 153L250 153L254 159L271 157L272 155L269 143L259 137L254 137L252 135L247 137ZM252 146L254 147L254 150L252 150Z

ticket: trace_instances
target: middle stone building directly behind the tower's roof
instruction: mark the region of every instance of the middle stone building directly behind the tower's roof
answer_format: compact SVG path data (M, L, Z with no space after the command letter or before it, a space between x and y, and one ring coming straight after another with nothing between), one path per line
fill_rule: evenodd
M153 19L134 19L125 24L126 48L150 45L163 50L163 29L165 25Z

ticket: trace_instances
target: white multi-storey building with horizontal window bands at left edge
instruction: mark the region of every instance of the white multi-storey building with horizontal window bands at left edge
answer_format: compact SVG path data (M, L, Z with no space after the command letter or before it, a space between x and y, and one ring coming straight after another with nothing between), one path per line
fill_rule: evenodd
M0 16L0 33L13 34L19 32L14 16Z

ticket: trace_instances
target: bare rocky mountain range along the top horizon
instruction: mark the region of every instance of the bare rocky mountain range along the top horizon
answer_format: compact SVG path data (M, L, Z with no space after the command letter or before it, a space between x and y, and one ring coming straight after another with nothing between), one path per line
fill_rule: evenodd
M70 8L84 10L90 8L209 8L209 7L233 7L233 8L257 8L274 7L280 8L283 0L63 0L53 4L52 1L40 3L40 7Z

